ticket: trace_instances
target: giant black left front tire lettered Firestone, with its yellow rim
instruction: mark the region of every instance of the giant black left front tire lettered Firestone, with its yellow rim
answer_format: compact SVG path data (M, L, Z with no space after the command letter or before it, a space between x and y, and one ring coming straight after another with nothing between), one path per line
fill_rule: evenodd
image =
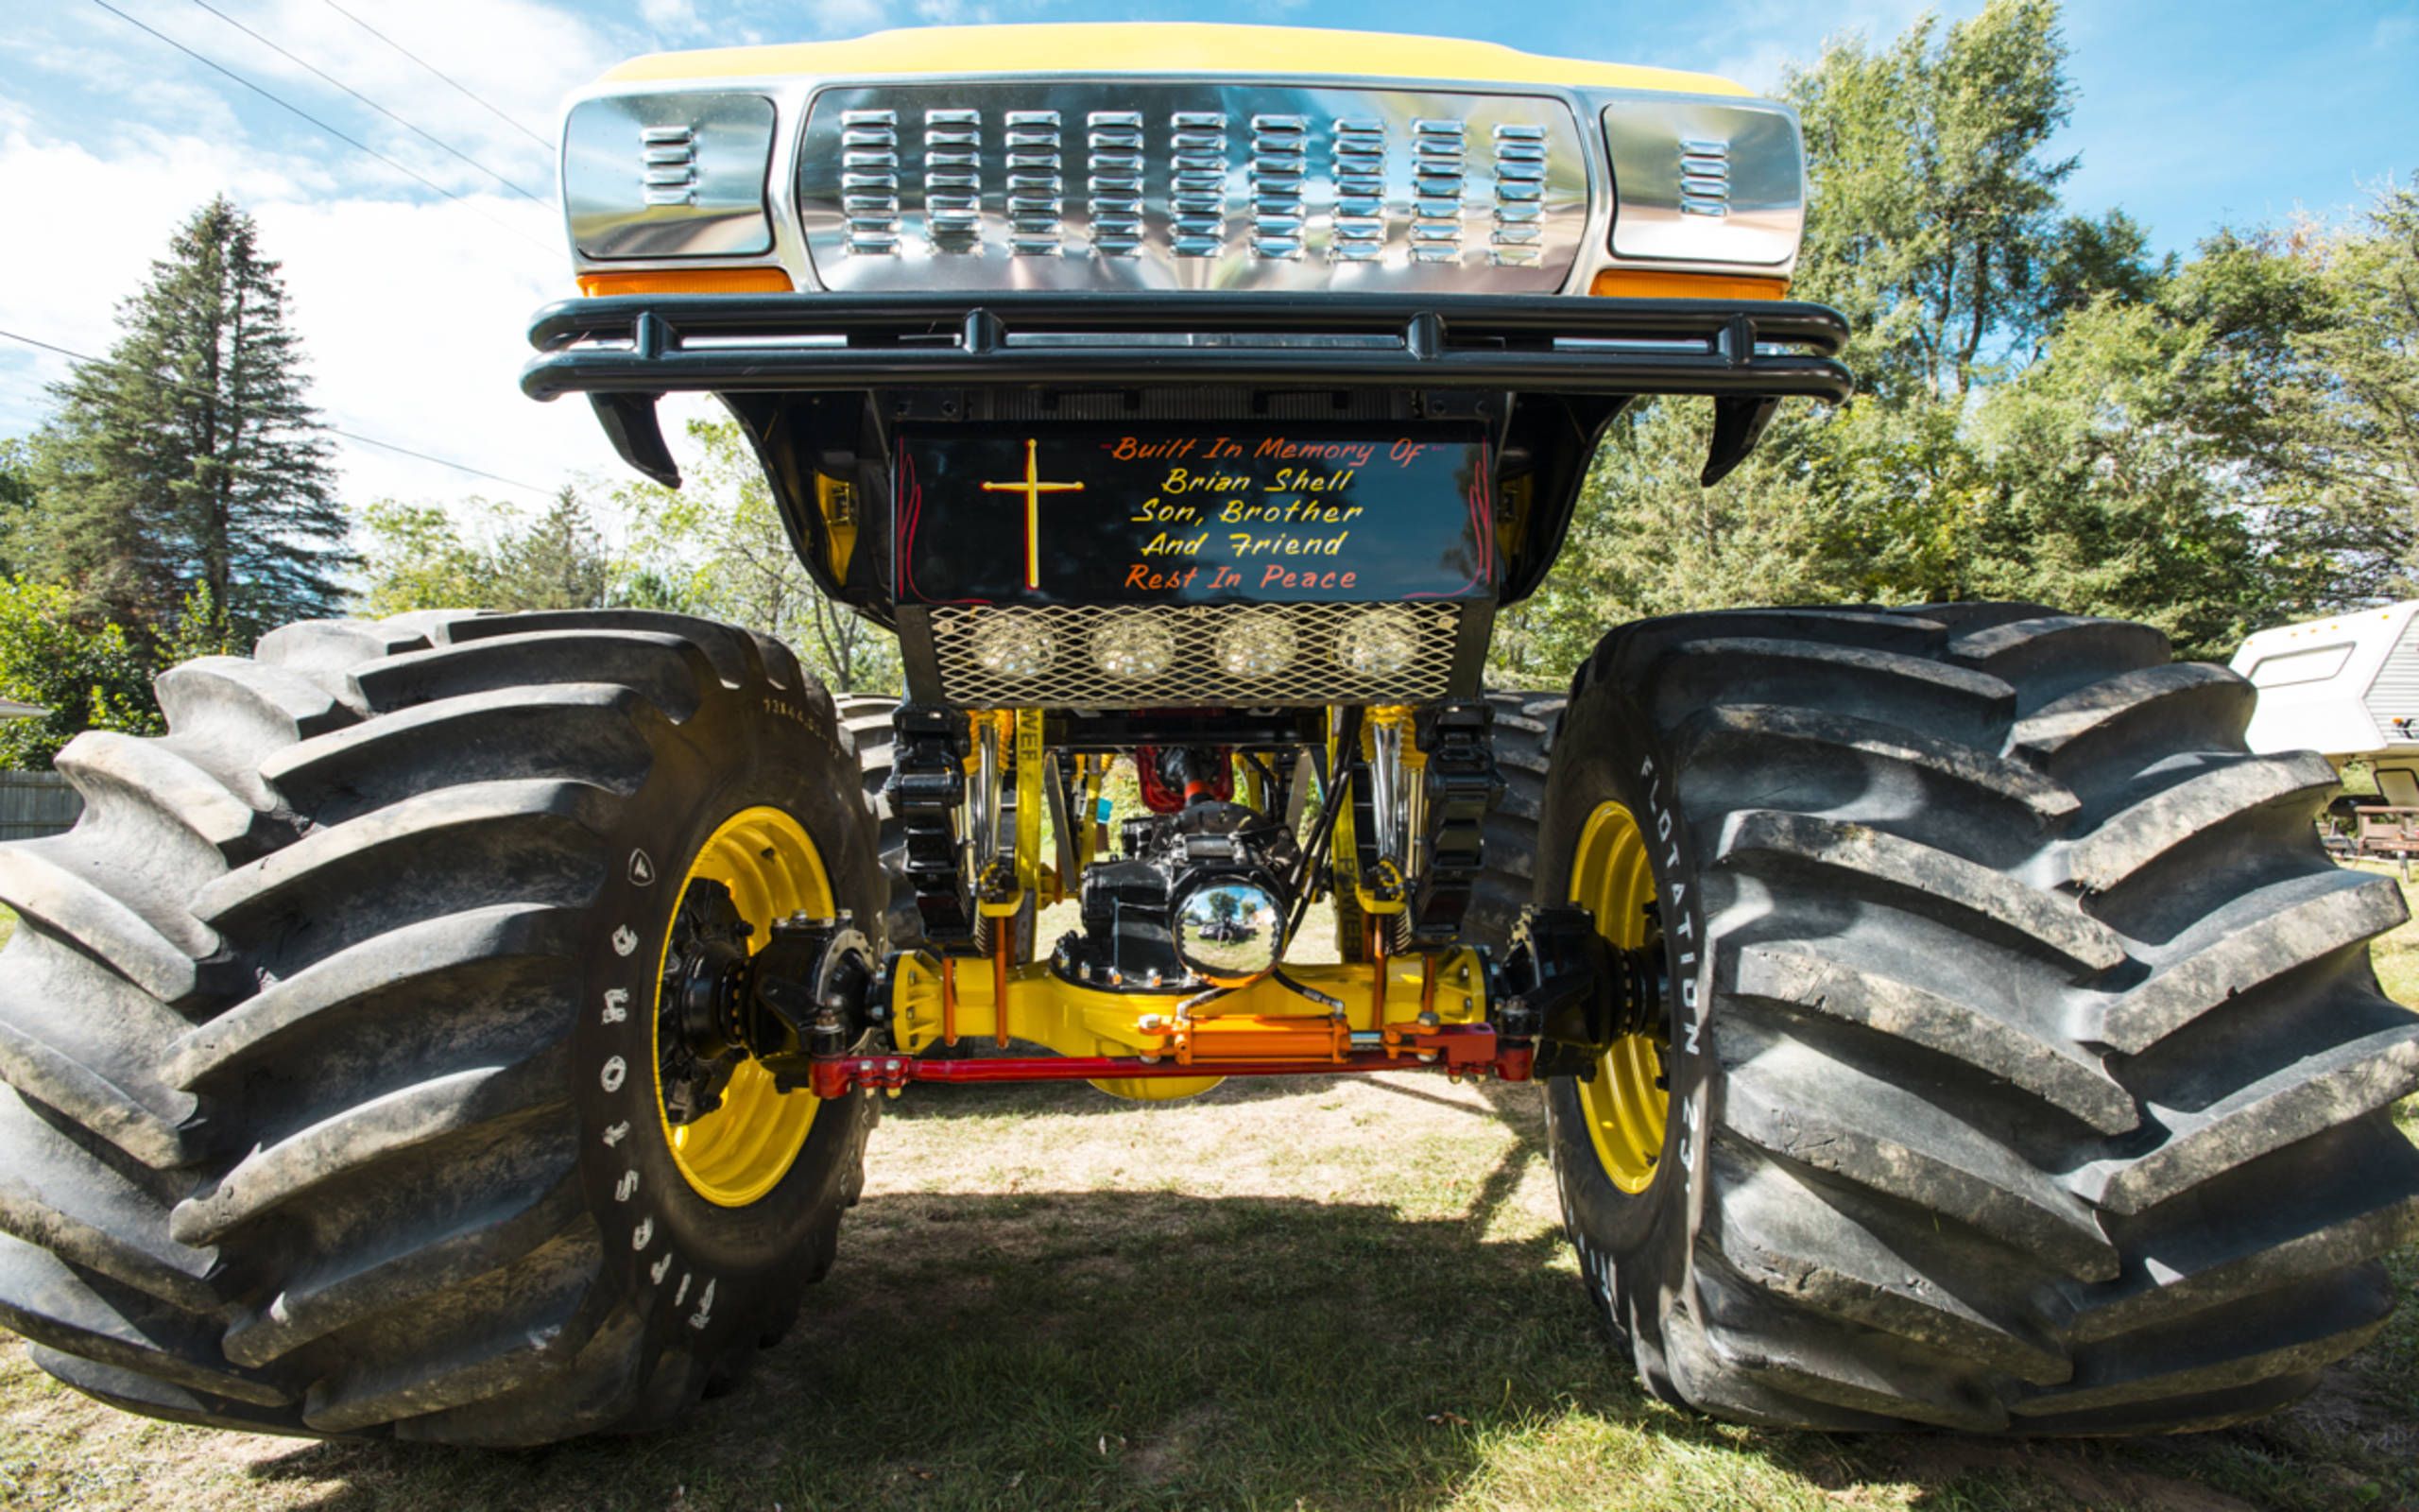
M873 1110L697 1093L702 936L883 907L779 644L639 612L298 624L160 680L0 847L0 1321L223 1427L646 1427L796 1316ZM752 934L738 924L752 927Z

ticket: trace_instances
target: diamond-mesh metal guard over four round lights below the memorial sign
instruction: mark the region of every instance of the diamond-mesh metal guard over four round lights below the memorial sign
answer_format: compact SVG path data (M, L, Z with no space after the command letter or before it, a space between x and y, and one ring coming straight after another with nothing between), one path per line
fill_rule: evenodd
M1418 636L1418 653L1398 673L1350 673L1338 658L1338 636L1376 605L1185 605L1139 610L1127 605L934 610L931 648L941 670L941 697L960 709L1142 709L1226 704L1243 709L1282 704L1430 702L1447 697L1454 636L1461 610L1449 602L1393 605ZM1023 619L1040 627L1050 665L1040 673L999 673L982 665L977 636L987 624ZM1239 617L1282 619L1292 629L1292 660L1268 675L1234 675L1219 663L1219 631ZM1110 677L1093 660L1093 636L1132 619L1164 627L1173 641L1166 670L1144 677Z

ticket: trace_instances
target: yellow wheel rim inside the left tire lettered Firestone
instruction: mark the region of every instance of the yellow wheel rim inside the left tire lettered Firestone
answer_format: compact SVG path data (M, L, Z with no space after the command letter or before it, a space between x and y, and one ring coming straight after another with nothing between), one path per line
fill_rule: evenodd
M762 948L774 919L789 914L832 914L832 883L822 856L798 820L779 808L747 808L721 823L689 861L680 890L714 881L731 893L740 917L755 927L750 948ZM665 931L665 956L672 941ZM656 994L663 994L663 968L656 970ZM665 1006L656 1004L656 1035L663 1035ZM723 1103L689 1123L672 1123L663 1108L663 1045L656 1045L656 1118L672 1161L699 1198L718 1207L747 1207L789 1176L806 1135L815 1127L815 1093L776 1091L772 1072L743 1060L731 1072Z

